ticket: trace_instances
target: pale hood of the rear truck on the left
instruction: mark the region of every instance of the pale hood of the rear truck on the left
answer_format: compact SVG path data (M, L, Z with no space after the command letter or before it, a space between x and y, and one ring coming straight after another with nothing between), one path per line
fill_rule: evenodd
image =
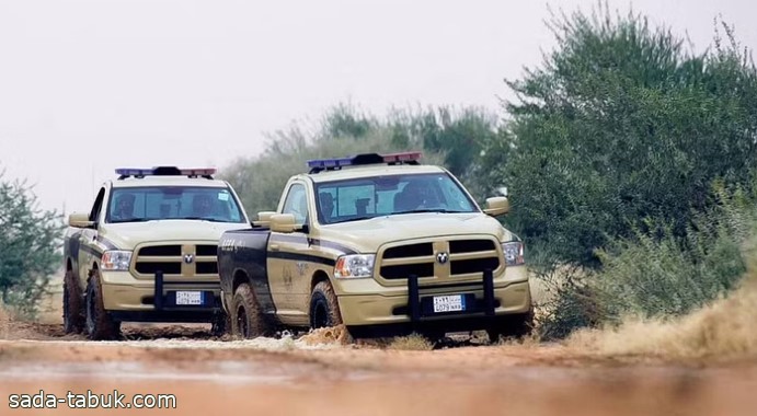
M133 250L137 244L154 242L218 242L223 231L249 227L246 223L210 222L198 220L157 220L103 224L100 236L121 250Z

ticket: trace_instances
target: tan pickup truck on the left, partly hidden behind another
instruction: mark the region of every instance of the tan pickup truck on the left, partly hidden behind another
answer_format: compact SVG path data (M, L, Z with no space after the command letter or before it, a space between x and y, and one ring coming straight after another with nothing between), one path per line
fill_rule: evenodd
M226 230L249 227L215 169L117 169L64 242L64 327L112 339L122 322L211 323L226 331L216 254Z

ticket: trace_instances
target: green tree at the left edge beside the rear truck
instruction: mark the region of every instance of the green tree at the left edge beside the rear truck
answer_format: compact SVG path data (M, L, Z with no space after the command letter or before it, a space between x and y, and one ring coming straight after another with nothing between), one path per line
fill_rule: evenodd
M60 266L61 216L37 208L25 182L0 173L0 298L22 314L34 314Z

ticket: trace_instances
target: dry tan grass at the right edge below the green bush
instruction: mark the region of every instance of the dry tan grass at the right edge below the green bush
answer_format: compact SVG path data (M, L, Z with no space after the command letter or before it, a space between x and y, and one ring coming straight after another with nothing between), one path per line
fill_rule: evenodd
M567 345L586 353L666 359L757 355L757 267L729 297L676 320L629 319L617 328L583 330Z

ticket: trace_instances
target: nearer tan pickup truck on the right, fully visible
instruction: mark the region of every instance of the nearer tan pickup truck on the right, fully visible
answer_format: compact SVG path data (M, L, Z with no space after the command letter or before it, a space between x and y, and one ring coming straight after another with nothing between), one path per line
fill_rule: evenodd
M226 231L221 299L232 333L346 325L354 337L485 330L532 320L523 242L420 152L312 160L276 211Z

